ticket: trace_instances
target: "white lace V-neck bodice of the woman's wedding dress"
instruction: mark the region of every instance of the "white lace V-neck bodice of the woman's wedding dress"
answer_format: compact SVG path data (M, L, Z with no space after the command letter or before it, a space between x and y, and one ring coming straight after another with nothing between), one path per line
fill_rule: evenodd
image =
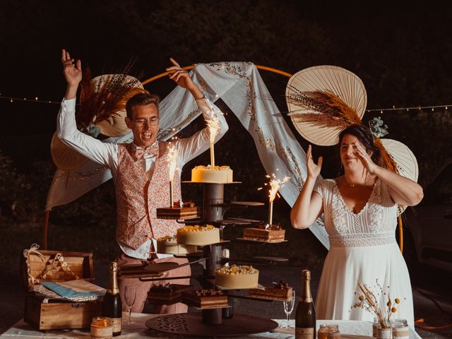
M353 213L345 205L333 179L322 180L314 191L322 197L331 247L379 246L396 241L397 205L380 179L376 180L369 201L359 213Z

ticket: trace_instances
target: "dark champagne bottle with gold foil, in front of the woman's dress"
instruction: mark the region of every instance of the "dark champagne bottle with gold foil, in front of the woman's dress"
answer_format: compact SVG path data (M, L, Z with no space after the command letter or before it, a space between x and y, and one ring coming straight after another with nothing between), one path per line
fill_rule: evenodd
M311 295L311 271L302 270L302 290L295 314L295 338L316 339L316 310Z

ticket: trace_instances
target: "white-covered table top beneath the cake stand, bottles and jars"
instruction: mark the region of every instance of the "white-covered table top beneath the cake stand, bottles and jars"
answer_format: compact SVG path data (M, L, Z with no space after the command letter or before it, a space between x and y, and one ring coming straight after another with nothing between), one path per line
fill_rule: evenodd
M128 315L123 314L123 320L126 319ZM145 326L145 321L148 319L158 316L157 314L132 314L132 320L134 321L131 325L123 324L121 335L114 338L181 338L181 335L172 335L168 333L162 333L157 331L152 331ZM285 320L275 319L280 326L285 324ZM290 320L290 326L294 326L295 321ZM339 325L339 331L341 338L345 339L370 339L372 335L372 325L369 321L353 321L353 320L317 320L317 328L319 328L321 323L336 323ZM0 335L0 338L90 338L89 328L80 330L54 330L41 332L34 328L28 326L22 320L14 324L13 327L9 328L8 331ZM189 338L189 337L187 337ZM193 338L193 337L192 337ZM225 338L225 337L222 337ZM237 337L230 337L237 338ZM294 338L293 328L276 328L273 333L258 333L254 335L248 335L242 338L278 338L278 339L288 339ZM421 338L412 328L410 328L410 339Z

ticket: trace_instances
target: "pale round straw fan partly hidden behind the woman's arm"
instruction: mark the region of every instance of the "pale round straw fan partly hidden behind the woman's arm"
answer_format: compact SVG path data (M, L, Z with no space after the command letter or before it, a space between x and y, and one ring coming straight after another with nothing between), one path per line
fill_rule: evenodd
M419 168L417 160L407 145L393 139L381 139L384 148L397 164L398 174L417 182ZM398 214L402 214L407 206L398 206Z

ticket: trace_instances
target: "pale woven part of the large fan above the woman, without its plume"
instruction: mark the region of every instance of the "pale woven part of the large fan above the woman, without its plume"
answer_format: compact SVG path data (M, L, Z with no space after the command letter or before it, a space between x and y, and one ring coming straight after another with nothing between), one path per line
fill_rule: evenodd
M286 87L286 101L289 115L297 131L307 141L316 145L335 145L338 135L345 127L334 124L331 126L321 124L316 119L302 119L302 114L308 113L312 117L320 113L319 109L304 105L299 100L290 100L293 97L303 96L303 93L333 93L348 107L355 110L357 120L360 120L366 110L367 94L361 79L354 73L338 66L314 66L295 73ZM314 116L315 117L315 116ZM321 114L319 114L321 117ZM360 121L359 121L360 122ZM350 122L352 124L353 122Z

